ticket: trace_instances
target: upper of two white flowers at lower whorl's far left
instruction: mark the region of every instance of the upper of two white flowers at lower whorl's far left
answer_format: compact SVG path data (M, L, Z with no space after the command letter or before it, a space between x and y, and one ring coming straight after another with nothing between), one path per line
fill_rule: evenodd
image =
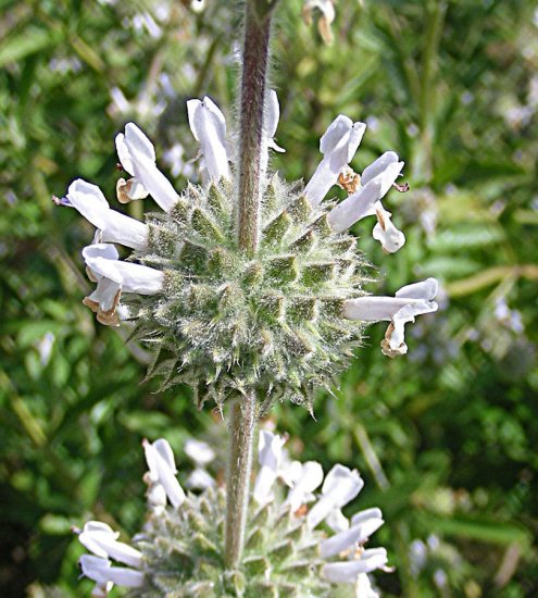
M100 521L88 521L78 535L78 541L102 559L114 559L121 563L139 569L142 562L142 553L128 544L117 541L118 532L114 532L110 525Z

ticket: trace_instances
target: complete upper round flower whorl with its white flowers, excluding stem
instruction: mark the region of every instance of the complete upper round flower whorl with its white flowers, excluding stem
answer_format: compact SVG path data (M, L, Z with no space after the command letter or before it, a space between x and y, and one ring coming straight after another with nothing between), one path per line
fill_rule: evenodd
M210 98L187 103L200 146L201 185L178 195L157 166L152 144L133 123L116 137L121 202L150 195L162 208L141 223L112 210L101 190L75 180L57 202L76 208L97 227L83 251L97 283L85 299L103 324L118 325L122 313L135 323L134 337L154 349L149 375L163 386L190 384L201 407L220 407L230 395L255 390L260 412L278 398L311 407L313 391L330 388L364 326L389 322L383 351L406 351L404 324L437 309L437 283L429 278L401 288L396 297L368 297L366 260L348 228L377 216L374 238L386 252L404 244L381 198L396 184L403 162L393 151L362 175L349 163L366 126L339 115L321 138L323 159L305 187L267 173L278 101L267 98L262 160L262 219L259 249L248 257L237 241L237 184L230 164L226 122ZM335 186L349 197L324 201ZM113 244L133 250L124 261ZM121 311L126 306L128 310Z

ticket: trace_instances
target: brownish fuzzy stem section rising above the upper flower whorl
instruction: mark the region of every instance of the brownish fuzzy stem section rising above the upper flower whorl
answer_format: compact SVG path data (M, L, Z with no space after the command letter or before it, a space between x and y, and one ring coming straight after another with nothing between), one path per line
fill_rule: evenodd
M267 78L271 16L273 3L247 0L245 4L245 37L239 123L239 247L248 256L258 249L260 234L261 163L263 142L263 111ZM268 8L267 8L268 7Z

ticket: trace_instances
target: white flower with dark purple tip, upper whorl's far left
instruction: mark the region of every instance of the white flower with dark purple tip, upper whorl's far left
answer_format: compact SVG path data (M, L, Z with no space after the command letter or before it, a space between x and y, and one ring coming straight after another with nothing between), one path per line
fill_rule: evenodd
M118 242L132 249L145 249L148 227L135 219L110 209L101 189L82 178L74 180L68 188L64 205L78 210L83 216L101 231L101 240Z

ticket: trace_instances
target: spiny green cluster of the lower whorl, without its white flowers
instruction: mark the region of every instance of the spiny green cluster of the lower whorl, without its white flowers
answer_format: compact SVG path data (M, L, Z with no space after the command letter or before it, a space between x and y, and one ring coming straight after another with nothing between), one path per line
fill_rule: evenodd
M280 503L251 504L250 530L239 570L223 562L225 491L187 495L179 510L151 514L135 538L143 555L145 584L132 598L224 596L314 598L339 588L321 575L318 545L325 534ZM349 587L343 588L349 594ZM342 591L343 591L342 590ZM343 596L345 594L342 594Z

